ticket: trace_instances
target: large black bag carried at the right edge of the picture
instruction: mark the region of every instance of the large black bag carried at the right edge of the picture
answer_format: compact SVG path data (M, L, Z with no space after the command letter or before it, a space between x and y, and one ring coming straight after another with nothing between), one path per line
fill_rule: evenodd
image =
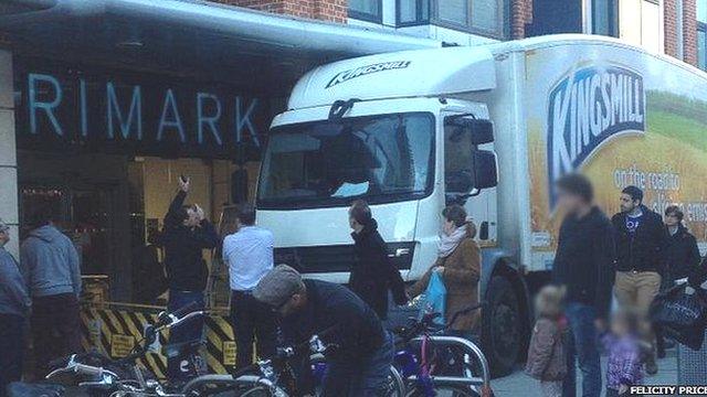
M666 335L692 350L699 350L707 326L707 293L701 289L687 293L686 288L683 283L658 293L648 313L651 321Z

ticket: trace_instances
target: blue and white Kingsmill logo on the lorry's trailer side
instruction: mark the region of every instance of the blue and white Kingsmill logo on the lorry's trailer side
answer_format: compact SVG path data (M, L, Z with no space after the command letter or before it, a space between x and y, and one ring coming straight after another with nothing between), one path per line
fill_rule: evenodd
M616 65L570 71L548 100L548 176L550 210L555 181L579 170L608 140L645 132L643 77Z

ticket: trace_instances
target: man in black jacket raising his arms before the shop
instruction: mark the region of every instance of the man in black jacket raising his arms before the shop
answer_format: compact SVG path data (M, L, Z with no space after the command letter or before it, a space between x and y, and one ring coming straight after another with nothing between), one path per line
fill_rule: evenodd
M207 287L209 269L202 250L214 248L219 235L205 219L199 205L184 205L189 192L189 180L179 180L179 192L165 216L161 245L165 247L165 267L169 283L167 310L173 312L189 304L203 307L203 290ZM169 343L184 343L201 339L203 320L194 319L170 331ZM184 380L189 374L182 373L179 357L169 357L167 373L172 380Z

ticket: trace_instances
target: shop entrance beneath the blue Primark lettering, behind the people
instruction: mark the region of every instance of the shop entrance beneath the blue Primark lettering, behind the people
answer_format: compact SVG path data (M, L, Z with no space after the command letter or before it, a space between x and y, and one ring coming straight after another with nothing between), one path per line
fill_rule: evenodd
M156 281L145 276L155 275L154 267L163 269L163 264L147 260L146 253L159 251L151 237L163 227L179 176L192 181L187 203L199 204L218 223L230 203L236 169L228 160L40 151L20 151L18 161L21 237L30 230L33 212L51 206L57 228L78 250L82 275L101 276L101 282L108 285L109 300L141 304L163 303L163 299L146 299L140 287ZM249 171L255 174L256 165ZM211 268L212 254L203 256Z

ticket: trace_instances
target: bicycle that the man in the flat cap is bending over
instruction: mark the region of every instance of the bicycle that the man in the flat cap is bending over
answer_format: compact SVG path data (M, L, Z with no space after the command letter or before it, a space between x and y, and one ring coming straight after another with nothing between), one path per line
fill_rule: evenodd
M325 333L331 332L325 331ZM320 333L319 335L324 335ZM275 356L260 360L255 364L247 366L228 379L224 375L207 375L192 379L184 387L184 396L202 396L219 394L226 390L238 390L241 397L286 397L299 395L297 382L291 361L300 354L310 354L310 369L315 377L315 386L321 386L324 374L326 373L325 354L331 345L325 345L314 335L296 346L277 348ZM213 386L215 383L225 386ZM386 397L403 397L404 383L398 369L391 365L388 375ZM318 395L317 390L317 395Z

